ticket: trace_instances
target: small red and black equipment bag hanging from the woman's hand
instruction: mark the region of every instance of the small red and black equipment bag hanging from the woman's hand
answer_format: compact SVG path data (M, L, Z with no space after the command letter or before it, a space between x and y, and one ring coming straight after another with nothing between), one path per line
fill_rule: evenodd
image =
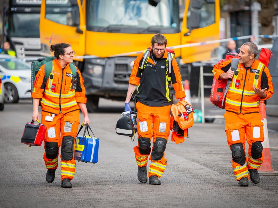
M41 146L43 138L46 131L46 126L41 124L34 124L32 120L31 123L26 123L22 134L21 143L27 144L29 146Z

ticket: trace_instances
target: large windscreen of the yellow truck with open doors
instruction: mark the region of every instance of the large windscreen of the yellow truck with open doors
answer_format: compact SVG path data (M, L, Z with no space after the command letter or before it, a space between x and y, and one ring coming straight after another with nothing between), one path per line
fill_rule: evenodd
M87 29L118 33L179 32L178 0L87 1Z

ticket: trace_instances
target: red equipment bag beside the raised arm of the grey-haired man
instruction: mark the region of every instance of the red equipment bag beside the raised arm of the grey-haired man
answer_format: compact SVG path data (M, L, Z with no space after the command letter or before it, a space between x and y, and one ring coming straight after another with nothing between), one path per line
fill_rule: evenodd
M227 53L225 59L220 59L217 64L221 64L222 62L225 62L229 59L239 58L239 55L237 53ZM232 65L238 65L237 64L231 64L231 70L236 70L237 66ZM223 79L223 80L217 80L215 77L213 77L213 82L212 82L212 87L211 87L211 102L220 107L225 109L225 104L226 104L226 88L227 88L227 83L230 85L231 81L228 81L228 79ZM227 89L228 90L228 89Z

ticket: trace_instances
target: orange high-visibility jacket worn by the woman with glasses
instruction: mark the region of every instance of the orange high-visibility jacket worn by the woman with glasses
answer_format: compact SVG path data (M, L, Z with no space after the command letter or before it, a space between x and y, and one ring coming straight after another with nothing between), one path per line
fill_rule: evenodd
M32 98L41 99L41 109L52 114L78 110L77 103L86 103L84 81L76 67L77 87L72 89L72 71L69 64L62 69L57 59L53 60L52 71L44 88L45 65L42 65L34 81ZM52 79L51 79L52 78Z

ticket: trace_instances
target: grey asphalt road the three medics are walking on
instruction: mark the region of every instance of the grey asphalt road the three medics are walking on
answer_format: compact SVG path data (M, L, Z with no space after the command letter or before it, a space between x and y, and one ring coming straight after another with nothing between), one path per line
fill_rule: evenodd
M278 176L261 176L259 184L239 187L231 167L224 122L195 123L182 144L169 140L162 185L137 179L133 147L137 142L115 133L123 102L100 101L89 114L100 138L97 164L77 162L73 187L45 181L43 145L20 143L32 104L20 101L0 112L0 207L277 207ZM82 119L82 116L81 116ZM278 170L278 133L269 131L272 168Z

